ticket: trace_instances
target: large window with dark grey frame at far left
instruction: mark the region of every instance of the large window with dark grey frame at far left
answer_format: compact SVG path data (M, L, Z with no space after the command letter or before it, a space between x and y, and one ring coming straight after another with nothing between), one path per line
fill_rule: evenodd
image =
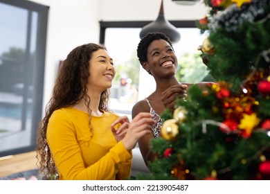
M48 7L0 1L0 156L35 150L42 117Z

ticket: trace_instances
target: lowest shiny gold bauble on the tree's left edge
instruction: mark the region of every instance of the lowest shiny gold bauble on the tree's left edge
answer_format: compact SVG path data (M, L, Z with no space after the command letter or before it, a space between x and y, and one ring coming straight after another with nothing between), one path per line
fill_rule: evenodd
M168 141L174 141L178 134L178 125L175 119L164 121L161 127L161 137Z

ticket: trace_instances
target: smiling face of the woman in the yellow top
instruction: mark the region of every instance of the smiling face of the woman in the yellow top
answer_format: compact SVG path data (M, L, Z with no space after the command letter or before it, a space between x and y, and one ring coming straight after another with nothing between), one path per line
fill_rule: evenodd
M89 88L104 91L111 87L116 71L113 60L106 50L99 49L92 53L89 61L89 74Z

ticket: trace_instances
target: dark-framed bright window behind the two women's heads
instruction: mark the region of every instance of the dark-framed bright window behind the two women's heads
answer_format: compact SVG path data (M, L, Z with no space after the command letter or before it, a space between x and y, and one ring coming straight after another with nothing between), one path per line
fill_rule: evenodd
M154 78L138 62L136 48L141 28L150 21L100 21L100 43L105 44L116 67L116 78L111 88L110 106L115 112L129 115L138 100L150 95L155 89ZM174 44L179 62L177 77L181 82L199 82L207 75L201 62L198 46L206 35L201 35L195 21L174 21L181 39Z

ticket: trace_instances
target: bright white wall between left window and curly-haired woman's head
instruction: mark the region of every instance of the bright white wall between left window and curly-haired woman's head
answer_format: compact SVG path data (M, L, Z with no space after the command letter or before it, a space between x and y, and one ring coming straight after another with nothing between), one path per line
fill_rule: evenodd
M76 46L99 42L99 0L30 0L48 6L44 107L51 98L60 60Z

